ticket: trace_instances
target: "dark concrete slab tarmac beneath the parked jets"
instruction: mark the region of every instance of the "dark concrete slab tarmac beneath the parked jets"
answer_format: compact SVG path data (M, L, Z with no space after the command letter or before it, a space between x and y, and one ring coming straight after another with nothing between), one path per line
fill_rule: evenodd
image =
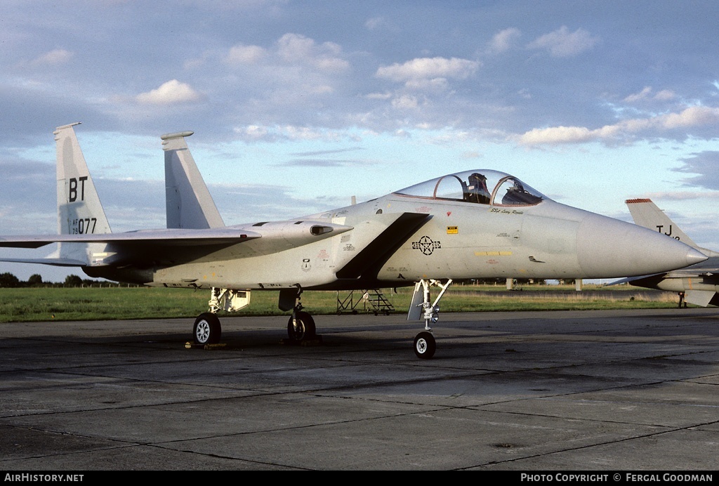
M0 324L0 469L713 470L719 311Z

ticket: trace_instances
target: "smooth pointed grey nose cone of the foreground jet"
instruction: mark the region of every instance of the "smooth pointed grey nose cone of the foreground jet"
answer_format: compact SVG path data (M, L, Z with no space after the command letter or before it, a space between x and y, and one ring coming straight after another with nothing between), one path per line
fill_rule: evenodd
M585 278L651 275L707 259L665 234L598 214L590 214L580 224L577 257Z

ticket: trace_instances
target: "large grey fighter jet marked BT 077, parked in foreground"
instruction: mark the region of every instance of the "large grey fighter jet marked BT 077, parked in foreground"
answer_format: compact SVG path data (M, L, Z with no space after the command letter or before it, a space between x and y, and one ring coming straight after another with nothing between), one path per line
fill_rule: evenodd
M291 311L290 339L316 335L303 290L414 286L408 320L424 321L418 357L434 355L430 324L453 280L612 278L647 275L706 259L656 231L565 206L513 175L467 170L380 198L288 221L224 226L188 150L192 132L162 136L168 228L111 233L75 137L55 129L58 233L0 237L1 247L60 243L32 263L76 265L91 277L155 287L207 289L209 312L193 326L198 344L221 337L219 311L275 290ZM431 298L431 288L439 293Z

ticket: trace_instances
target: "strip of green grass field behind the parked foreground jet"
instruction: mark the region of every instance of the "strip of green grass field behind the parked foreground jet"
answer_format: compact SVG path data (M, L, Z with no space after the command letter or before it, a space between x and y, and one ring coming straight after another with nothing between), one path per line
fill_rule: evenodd
M385 289L397 313L406 313L413 288L398 293ZM344 298L347 293L340 293ZM361 298L354 293L354 300ZM433 289L433 298L436 290ZM334 314L337 293L304 292L302 303L313 314ZM90 321L136 318L195 318L207 310L208 290L168 288L0 288L0 322ZM582 292L573 286L525 285L521 291L502 286L456 285L441 300L443 312L557 311L608 308L676 307L677 295L626 285L603 288L585 285ZM273 316L288 314L277 307L278 292L253 292L249 307L239 315ZM368 311L362 303L357 311ZM371 311L371 309L369 309Z

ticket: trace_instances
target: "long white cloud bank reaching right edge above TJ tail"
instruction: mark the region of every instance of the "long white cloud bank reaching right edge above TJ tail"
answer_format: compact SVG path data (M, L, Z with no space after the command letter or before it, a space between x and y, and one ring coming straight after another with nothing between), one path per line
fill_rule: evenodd
M618 142L642 132L660 137L672 130L711 127L719 123L719 108L690 106L679 113L661 114L644 119L628 119L598 129L587 127L536 128L522 134L519 143L526 146L559 145L586 142Z

